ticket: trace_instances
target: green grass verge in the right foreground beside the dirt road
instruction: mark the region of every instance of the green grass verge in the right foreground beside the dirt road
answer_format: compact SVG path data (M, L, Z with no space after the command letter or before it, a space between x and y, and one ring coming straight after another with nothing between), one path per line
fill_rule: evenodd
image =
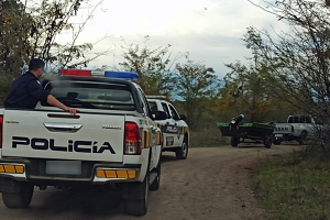
M253 184L270 219L330 219L330 162L279 155L254 170Z

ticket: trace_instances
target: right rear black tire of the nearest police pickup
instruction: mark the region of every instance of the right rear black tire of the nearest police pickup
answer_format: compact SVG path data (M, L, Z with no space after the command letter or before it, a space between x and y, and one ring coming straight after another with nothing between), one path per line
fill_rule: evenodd
M142 183L136 183L136 187L143 187L143 199L125 199L124 200L124 212L127 215L142 217L147 211L148 206L148 188L150 188L150 170L147 168L147 173Z

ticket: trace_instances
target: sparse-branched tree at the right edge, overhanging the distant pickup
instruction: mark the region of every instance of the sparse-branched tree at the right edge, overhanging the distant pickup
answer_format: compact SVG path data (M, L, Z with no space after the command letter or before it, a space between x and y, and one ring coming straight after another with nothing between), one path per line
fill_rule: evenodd
M326 1L328 2L328 1ZM257 48L272 67L270 87L301 112L330 124L330 10L322 0L282 0L271 4L271 13L290 30L276 36L251 28L245 42ZM329 129L320 131L322 155L330 156Z

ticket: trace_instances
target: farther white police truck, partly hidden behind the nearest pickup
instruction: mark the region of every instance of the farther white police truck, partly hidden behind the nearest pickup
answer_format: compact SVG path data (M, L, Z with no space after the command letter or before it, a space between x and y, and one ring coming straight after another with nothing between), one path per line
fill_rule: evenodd
M146 96L152 112L164 111L166 120L156 121L163 132L163 151L175 152L178 160L186 160L189 146L189 128L186 116L178 114L174 106L165 100L163 96Z

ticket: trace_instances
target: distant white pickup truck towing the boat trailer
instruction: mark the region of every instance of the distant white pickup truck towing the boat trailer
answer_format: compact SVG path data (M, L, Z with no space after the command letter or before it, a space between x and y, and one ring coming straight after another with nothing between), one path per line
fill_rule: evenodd
M297 141L300 145L305 140L317 135L319 125L310 116L289 116L287 123L276 123L273 132L273 143L279 145L283 141Z

